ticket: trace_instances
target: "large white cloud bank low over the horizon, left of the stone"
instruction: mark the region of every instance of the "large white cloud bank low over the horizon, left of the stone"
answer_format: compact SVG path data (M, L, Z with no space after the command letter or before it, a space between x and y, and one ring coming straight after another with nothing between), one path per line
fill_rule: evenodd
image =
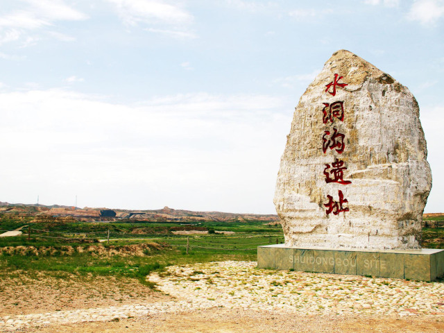
M0 105L3 200L39 193L64 204L78 194L96 207L274 212L292 114L278 98L201 93L119 105L52 89L0 93Z

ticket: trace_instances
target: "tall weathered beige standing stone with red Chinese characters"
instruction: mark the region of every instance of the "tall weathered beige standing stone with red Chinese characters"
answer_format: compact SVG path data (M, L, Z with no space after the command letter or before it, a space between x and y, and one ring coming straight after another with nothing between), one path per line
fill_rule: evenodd
M419 248L426 157L409 89L337 51L300 98L282 155L274 203L286 245Z

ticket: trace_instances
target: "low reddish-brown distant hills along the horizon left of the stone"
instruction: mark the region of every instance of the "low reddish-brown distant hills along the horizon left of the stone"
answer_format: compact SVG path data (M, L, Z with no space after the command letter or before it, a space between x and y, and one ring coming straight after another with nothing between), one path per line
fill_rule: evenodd
M26 216L71 216L77 221L279 221L275 214L238 214L225 212L193 212L163 207L160 210L120 210L100 208L78 208L62 205L25 205L0 202L0 213Z

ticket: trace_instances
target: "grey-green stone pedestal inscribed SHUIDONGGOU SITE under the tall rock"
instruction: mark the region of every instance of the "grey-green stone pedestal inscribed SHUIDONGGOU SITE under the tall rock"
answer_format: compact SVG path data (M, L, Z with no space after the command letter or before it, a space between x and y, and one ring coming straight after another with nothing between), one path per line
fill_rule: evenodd
M338 250L258 246L259 268L432 281L444 277L444 250Z

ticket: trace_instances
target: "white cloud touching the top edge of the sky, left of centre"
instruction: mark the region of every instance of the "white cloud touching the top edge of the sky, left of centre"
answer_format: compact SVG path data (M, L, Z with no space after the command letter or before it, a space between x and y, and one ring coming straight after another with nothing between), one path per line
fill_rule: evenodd
M107 0L114 3L123 22L135 25L148 24L187 24L193 20L186 10L158 0Z

